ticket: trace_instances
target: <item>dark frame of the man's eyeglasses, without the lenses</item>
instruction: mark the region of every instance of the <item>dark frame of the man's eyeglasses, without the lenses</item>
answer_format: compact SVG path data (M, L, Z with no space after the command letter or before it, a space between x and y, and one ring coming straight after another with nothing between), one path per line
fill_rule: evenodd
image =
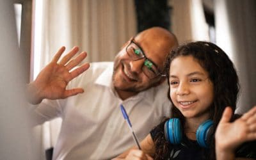
M131 44L136 45L136 46L141 50L141 54L142 54L143 56L141 56L140 58L137 58L137 59L132 58L132 57L129 55L129 53L127 52L127 48L128 48ZM135 42L134 38L132 38L132 39L130 40L130 43L125 47L125 51L126 51L126 54L132 59L132 61L138 61L138 60L141 60L141 59L145 59L144 62L143 62L143 65L145 65L145 61L150 61L150 62L152 63L152 65L154 65L154 66L157 68L157 70L156 70L157 72L155 72L154 70L152 70L152 71L154 72L154 74L156 74L156 76L154 76L154 77L148 77L148 75L145 74L144 70L142 70L143 73L148 77L148 79L154 79L154 78L156 78L156 77L158 77L158 76L165 76L165 75L161 74L161 72L159 71L159 69L158 69L156 63L154 63L154 61L152 61L152 60L150 60L149 58L147 58L147 56L145 55L143 49L140 47L139 44L137 44L137 43ZM147 65L145 65L145 66L147 67ZM147 67L147 68L148 68L148 67ZM148 69L150 69L150 68L148 68Z

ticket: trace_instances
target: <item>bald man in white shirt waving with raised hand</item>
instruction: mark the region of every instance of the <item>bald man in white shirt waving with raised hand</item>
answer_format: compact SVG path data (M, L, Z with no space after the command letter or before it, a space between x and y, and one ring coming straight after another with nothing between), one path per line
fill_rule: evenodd
M70 61L77 47L59 61L62 47L28 86L29 101L38 104L38 123L62 118L53 159L110 159L132 147L120 104L139 141L145 138L170 114L168 86L161 72L166 55L176 46L172 33L150 28L131 38L114 63L92 63L89 69L88 63L73 69L86 57L82 52Z

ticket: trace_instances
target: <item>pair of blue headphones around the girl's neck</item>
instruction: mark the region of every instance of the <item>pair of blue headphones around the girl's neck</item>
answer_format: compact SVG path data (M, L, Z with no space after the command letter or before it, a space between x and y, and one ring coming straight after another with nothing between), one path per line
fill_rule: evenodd
M213 133L212 120L206 120L196 130L196 141L204 148L208 148ZM182 129L179 118L170 118L164 124L164 136L166 141L172 144L180 144L182 140Z

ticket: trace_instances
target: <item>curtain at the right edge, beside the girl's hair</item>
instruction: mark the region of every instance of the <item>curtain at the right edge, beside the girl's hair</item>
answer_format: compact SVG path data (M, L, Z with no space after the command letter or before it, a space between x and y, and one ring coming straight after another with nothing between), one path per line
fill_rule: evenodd
M234 62L241 83L237 112L256 104L256 1L216 0L216 43Z

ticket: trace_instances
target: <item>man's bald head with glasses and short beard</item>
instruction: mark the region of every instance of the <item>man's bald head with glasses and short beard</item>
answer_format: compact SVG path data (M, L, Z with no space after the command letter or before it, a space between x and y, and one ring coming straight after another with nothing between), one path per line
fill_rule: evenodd
M114 62L113 84L119 96L127 99L163 82L164 60L177 45L175 35L159 27L131 38Z

